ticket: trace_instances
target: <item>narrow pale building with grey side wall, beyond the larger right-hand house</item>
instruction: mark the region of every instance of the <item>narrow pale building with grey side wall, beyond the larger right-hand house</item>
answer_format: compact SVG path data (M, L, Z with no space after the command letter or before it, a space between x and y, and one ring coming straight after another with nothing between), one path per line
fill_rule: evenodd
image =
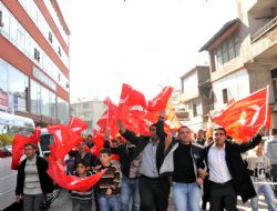
M206 129L209 110L213 109L211 97L209 67L196 66L181 77L183 108L176 112L182 124L193 131Z

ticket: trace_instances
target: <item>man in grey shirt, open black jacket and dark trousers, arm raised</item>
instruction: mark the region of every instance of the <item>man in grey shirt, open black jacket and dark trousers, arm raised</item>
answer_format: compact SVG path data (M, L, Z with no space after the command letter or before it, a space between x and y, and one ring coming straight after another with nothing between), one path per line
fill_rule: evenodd
M133 132L117 122L121 134L136 145L133 158L142 155L138 168L138 190L141 198L141 210L166 211L170 194L168 177L160 177L158 171L163 161L164 140L156 134L156 124L150 127L150 137L136 137Z

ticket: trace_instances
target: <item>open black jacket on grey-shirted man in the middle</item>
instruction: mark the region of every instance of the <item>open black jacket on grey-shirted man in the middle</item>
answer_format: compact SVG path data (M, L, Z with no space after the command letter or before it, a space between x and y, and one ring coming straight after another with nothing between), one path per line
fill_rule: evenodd
M150 142L150 137L146 137L146 135L136 137L133 132L129 130L126 130L124 133L121 132L121 134L131 143L136 145L136 149L134 150L133 155L132 155L133 159L135 159ZM163 152L164 152L164 140L160 140L157 144L157 149L156 149L157 172L160 172L160 168L163 162Z

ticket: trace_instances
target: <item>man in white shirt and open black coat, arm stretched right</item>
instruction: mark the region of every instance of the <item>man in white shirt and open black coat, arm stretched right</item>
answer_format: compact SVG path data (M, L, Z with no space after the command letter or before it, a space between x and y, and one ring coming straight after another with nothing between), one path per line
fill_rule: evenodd
M256 195L240 153L255 148L263 134L259 131L250 141L238 144L227 140L224 128L215 129L215 142L204 150L208 171L209 210L237 210L237 195L242 197L243 202Z

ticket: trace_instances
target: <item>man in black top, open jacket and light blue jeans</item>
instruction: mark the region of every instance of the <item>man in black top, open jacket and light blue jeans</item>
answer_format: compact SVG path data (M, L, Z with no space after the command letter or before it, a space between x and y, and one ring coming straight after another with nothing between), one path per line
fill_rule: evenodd
M177 139L171 138L164 132L164 121L161 120L157 123L157 134L165 140L165 158L160 173L172 175L175 210L201 210L203 179L198 169L204 169L203 148L193 143L192 131L186 125L178 129Z

